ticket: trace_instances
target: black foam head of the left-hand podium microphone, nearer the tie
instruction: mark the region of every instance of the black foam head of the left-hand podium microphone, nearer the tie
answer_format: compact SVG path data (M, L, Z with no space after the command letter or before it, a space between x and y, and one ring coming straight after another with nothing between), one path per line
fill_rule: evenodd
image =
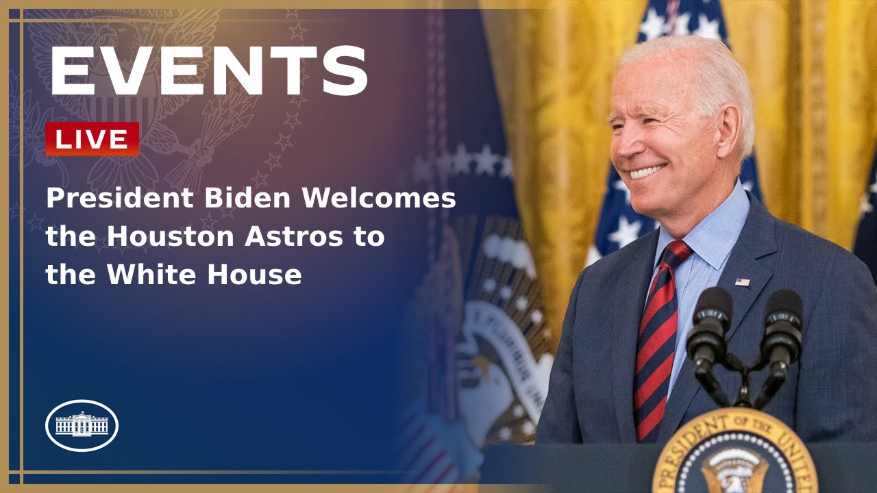
M701 293L695 305L695 326L688 332L686 348L695 367L724 359L727 343L725 332L731 325L731 295L722 288L709 288Z

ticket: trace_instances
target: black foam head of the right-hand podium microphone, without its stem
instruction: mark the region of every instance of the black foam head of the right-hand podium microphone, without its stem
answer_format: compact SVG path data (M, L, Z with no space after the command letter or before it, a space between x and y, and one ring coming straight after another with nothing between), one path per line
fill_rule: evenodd
M777 364L789 365L801 355L801 314L804 303L792 289L780 289L767 300L765 336L761 339L761 357Z

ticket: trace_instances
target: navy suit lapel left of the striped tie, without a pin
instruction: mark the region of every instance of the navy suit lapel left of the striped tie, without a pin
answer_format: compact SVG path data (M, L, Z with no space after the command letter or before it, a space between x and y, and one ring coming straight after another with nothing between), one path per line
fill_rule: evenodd
M627 268L616 282L616 302L607 313L612 337L612 389L615 394L615 416L618 424L618 437L622 443L637 440L633 425L633 367L637 353L637 337L640 318L643 316L646 291L652 280L655 248L658 246L658 230L649 232L651 238L644 238L635 246L630 256L619 259L626 262ZM634 247L631 245L631 247ZM607 324L609 325L609 324Z

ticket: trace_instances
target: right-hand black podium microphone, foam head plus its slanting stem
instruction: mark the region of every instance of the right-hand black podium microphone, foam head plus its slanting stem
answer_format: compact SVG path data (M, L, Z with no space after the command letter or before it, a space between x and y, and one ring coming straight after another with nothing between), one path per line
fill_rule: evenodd
M804 303L792 289L780 289L767 300L761 359L770 365L755 409L763 408L786 382L788 367L801 356L801 314ZM762 363L762 364L765 364Z

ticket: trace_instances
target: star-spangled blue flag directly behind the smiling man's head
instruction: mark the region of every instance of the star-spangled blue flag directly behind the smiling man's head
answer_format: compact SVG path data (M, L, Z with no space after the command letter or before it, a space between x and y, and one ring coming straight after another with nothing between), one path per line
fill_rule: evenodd
M728 29L719 0L650 0L639 25L637 42L660 36L692 34L702 38L721 39L725 45L731 46L728 43ZM761 199L754 154L743 161L740 181L745 189ZM657 225L654 219L633 211L630 192L610 164L594 245L588 249L588 265L626 246L655 227ZM877 232L877 227L874 231Z

